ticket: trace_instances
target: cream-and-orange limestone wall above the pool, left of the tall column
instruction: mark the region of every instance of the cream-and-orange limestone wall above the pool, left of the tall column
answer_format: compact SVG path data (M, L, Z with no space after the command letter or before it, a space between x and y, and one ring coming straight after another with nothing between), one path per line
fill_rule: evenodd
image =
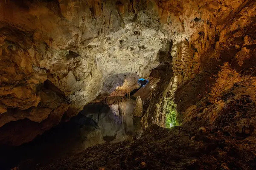
M41 123L60 105L69 119L127 75L148 73L166 40L149 3L1 0L0 127Z

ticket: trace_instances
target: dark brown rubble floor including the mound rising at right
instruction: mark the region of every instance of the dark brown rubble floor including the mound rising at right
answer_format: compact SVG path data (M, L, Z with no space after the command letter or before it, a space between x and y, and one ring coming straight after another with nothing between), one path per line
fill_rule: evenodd
M224 97L229 99L233 96ZM198 117L190 123L172 128L151 125L140 138L134 137L132 142L99 144L34 169L255 170L254 127L241 123L241 120L252 121L254 108L252 100L244 96L226 105L214 124L208 127L201 127L205 122ZM241 127L241 130L235 130L237 127Z

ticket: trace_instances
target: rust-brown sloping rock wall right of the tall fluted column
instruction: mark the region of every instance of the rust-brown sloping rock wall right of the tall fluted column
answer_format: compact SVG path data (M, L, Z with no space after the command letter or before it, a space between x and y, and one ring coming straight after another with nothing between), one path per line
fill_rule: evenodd
M236 112L240 113L240 111L236 111L236 108L230 108L231 101L234 105L236 102L244 101L245 96L248 97L247 102L250 101L250 104L240 103L240 108L254 105L255 101L254 91L249 89L253 86L255 79L253 71L255 55L252 53L255 31L252 28L255 26L256 4L254 1L240 3L234 1L227 8L224 6L225 3L227 2L219 3L219 10L215 12L215 17L219 20L215 25L211 25L216 30L215 36L212 38L209 36L210 28L204 31L204 34L199 32L199 36L207 36L207 38L201 40L201 42L205 41L205 45L201 45L205 52L198 51L201 61L198 73L192 76L192 79L184 81L175 96L178 111L185 116L184 122L193 122L195 119L202 120L203 125L210 126L209 129L221 127L217 122L218 119L224 119L223 116L227 116L225 112L229 112L231 115ZM235 9L235 7L237 8ZM234 10L229 10L232 8ZM224 12L227 11L229 13L224 15ZM214 43L209 45L209 42ZM194 46L196 48L196 44ZM246 88L247 92L243 91L243 88ZM246 115L246 113L244 114ZM250 119L253 120L256 115L251 116ZM255 126L252 120L248 122L247 126ZM237 122L237 124L240 123Z

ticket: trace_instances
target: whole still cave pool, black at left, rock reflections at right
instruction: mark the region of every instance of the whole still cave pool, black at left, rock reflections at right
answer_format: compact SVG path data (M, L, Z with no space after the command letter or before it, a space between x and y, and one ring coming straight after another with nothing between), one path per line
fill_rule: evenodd
M63 157L72 157L96 144L131 139L140 129L139 120L135 122L133 118L135 102L125 97L111 97L105 103L86 105L69 122L57 125L33 142L19 147L2 147L0 167L7 170L19 164L20 170L35 169Z

